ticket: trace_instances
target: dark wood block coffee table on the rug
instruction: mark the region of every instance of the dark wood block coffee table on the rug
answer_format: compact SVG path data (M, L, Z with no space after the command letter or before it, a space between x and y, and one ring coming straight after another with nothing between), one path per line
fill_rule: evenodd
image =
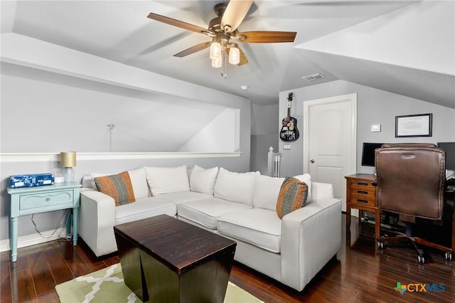
M235 241L166 215L114 234L125 284L143 302L223 302Z

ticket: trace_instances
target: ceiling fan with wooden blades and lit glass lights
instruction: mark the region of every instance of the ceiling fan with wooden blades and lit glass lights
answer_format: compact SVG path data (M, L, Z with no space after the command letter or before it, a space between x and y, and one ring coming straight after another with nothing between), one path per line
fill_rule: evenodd
M203 33L212 38L212 41L199 43L180 53L176 53L174 57L185 57L210 47L210 58L214 68L225 66L223 61L226 61L227 58L229 58L229 63L241 66L247 64L248 60L245 53L237 46L237 43L232 41L242 43L294 42L296 36L294 31L244 31L239 33L237 27L247 15L252 2L252 0L231 0L228 3L215 4L214 11L218 17L210 20L208 29L154 13L150 13L147 17L186 29L187 31Z

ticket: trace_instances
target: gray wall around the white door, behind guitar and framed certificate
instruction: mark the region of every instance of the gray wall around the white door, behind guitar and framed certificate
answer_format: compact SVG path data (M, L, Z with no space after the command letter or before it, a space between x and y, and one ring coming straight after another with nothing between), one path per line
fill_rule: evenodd
M337 95L357 93L357 172L373 173L373 168L360 166L363 142L447 142L455 141L455 110L434 105L430 102L396 95L384 90L336 80L311 87L301 87L280 92L279 117L287 115L286 100L289 92L294 92L291 115L299 121L299 131L303 132L303 102ZM395 116L433 114L432 137L395 138ZM381 132L370 132L371 124L381 124ZM294 176L303 171L303 138L291 143L291 150L279 151L283 154L282 176Z

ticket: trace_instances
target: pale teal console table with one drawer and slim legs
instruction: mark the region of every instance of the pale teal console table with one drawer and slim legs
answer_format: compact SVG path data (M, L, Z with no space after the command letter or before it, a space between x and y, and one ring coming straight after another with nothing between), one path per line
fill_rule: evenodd
M79 213L80 184L61 183L47 186L8 188L11 195L10 245L11 260L17 260L18 217L46 211L73 208L73 244L77 245L77 218ZM71 232L71 220L66 225Z

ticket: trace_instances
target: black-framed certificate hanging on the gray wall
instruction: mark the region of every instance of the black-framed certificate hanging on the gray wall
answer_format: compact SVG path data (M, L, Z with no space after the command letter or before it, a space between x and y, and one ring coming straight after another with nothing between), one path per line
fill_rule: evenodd
M432 137L432 116L395 116L395 137Z

